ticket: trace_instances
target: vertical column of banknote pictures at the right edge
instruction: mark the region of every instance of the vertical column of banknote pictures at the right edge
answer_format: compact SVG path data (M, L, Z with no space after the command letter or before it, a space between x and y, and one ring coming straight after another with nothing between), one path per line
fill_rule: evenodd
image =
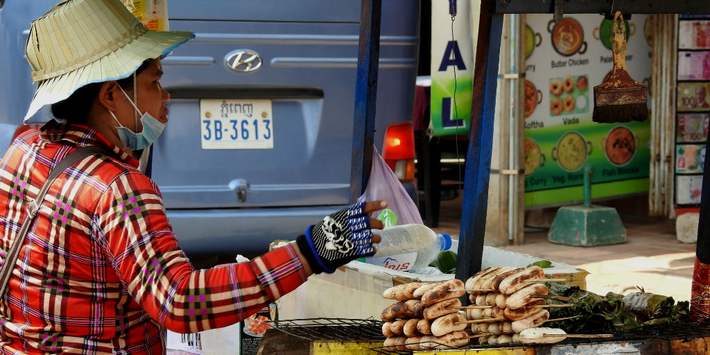
M675 204L699 207L710 121L710 20L681 16L675 121Z

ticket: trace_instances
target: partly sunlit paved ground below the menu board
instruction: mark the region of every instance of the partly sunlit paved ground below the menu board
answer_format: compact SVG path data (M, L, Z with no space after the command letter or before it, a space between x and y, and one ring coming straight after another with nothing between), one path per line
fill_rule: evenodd
M456 204L442 204L438 233L457 238L461 209ZM551 244L547 231L526 231L525 244L501 249L525 253L582 268L587 275L587 289L606 294L626 293L643 287L647 292L688 300L695 244L682 244L675 238L674 221L623 219L626 244L581 248Z

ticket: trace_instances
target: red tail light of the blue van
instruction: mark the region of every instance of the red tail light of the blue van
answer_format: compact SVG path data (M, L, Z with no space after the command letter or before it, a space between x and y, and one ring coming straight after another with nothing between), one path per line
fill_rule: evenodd
M412 122L387 126L382 158L401 182L414 180L414 129Z

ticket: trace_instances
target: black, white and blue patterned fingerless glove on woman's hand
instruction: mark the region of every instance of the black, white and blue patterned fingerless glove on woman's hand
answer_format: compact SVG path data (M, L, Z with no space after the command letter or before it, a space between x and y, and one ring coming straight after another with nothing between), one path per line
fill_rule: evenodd
M356 258L375 255L364 203L341 209L309 226L305 235L296 238L296 244L314 273L334 273L338 266Z

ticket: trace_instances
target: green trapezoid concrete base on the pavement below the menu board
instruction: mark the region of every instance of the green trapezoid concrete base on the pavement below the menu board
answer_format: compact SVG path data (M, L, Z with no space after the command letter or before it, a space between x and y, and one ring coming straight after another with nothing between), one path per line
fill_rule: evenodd
M571 246L619 244L626 242L626 229L612 207L562 207L557 211L547 239Z

